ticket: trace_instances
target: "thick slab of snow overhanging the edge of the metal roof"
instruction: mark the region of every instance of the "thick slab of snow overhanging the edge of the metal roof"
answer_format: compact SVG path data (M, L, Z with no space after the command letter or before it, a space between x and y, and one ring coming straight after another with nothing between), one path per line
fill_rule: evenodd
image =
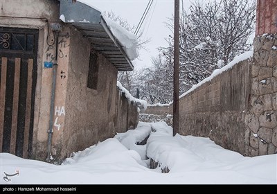
M102 17L107 22L111 33L114 34L116 39L120 42L123 46L124 51L126 52L129 60L135 60L139 57L139 50L138 50L138 39L136 35L133 33L128 32L125 28L117 24L115 21L112 21L108 17L102 15Z

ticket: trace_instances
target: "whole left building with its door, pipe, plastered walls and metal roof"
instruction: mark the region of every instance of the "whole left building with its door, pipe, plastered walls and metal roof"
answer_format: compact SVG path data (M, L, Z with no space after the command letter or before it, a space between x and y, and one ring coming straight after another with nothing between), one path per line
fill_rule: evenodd
M61 161L136 126L137 104L116 87L133 65L100 11L71 0L0 7L1 152Z

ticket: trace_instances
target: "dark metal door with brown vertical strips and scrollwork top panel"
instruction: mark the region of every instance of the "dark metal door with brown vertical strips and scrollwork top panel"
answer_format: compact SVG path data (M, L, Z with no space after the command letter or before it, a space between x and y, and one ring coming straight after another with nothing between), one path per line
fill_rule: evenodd
M0 151L32 152L38 30L0 27Z

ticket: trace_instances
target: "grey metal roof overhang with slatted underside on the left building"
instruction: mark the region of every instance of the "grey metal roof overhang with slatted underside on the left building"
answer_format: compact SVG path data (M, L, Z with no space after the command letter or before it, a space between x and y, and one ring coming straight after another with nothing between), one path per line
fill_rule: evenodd
M111 64L120 71L133 70L134 66L123 50L123 46L111 33L101 12L76 1L61 0L60 15L64 15L64 22L72 24L84 37L91 42L91 46L99 51Z

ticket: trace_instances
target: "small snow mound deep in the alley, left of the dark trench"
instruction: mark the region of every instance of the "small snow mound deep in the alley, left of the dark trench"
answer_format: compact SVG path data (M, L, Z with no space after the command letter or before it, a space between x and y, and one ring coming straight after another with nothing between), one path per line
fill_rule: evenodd
M141 156L141 159L145 160L146 157L146 145L136 145L146 139L151 132L151 125L149 123L139 122L139 125L135 130L128 130L125 133L118 133L114 138L118 139L128 150L135 150Z

